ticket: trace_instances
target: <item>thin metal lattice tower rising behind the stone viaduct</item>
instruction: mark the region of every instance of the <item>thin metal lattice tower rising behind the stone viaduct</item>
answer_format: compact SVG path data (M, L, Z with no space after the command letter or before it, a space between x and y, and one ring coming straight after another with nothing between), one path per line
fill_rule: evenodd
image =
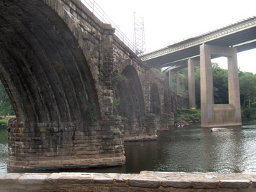
M133 29L133 44L135 46L134 52L137 55L142 55L145 52L145 32L144 32L144 18L143 16L136 16L134 14L134 29Z

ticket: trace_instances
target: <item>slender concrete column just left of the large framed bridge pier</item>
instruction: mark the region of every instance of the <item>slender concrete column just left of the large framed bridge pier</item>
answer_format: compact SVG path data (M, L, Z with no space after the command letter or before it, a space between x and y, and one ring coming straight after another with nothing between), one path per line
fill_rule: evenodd
M195 108L195 65L200 65L200 61L196 59L188 60L188 97L190 109Z

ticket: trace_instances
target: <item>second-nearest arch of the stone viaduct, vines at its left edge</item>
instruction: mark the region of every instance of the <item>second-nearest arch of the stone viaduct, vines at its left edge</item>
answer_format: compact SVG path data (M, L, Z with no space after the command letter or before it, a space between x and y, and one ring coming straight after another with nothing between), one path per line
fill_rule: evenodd
M114 95L119 100L114 114L125 119L125 140L136 140L136 137L142 138L147 134L143 124L145 119L143 90L138 73L132 65L126 65L121 75L126 77L126 80L118 82L114 87Z

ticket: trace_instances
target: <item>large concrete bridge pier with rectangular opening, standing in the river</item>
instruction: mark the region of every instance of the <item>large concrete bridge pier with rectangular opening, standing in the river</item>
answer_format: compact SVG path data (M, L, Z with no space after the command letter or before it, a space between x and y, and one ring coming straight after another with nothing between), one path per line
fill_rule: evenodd
M214 105L211 55L226 56L229 104ZM227 127L242 124L236 48L200 46L201 126Z

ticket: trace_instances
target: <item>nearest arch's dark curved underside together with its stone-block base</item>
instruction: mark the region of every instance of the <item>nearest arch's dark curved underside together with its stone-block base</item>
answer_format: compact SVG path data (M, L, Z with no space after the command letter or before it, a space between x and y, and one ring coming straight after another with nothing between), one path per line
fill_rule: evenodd
M8 169L124 164L121 133L101 133L101 102L76 29L41 0L0 7L0 79L17 117L9 124Z

